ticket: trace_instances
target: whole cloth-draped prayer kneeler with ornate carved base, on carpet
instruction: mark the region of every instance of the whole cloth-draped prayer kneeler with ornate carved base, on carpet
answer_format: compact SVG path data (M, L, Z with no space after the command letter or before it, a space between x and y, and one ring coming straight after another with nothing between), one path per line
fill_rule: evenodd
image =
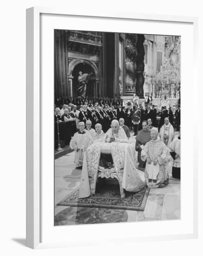
M130 143L96 142L84 155L79 198L95 194L98 178L117 179L120 196L145 186L144 173L136 168L135 148ZM107 161L104 161L107 157Z

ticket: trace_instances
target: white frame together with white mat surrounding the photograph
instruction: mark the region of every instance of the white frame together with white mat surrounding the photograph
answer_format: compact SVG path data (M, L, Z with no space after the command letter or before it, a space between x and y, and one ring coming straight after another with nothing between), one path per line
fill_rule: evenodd
M63 15L59 15L63 14ZM49 17L49 21L47 20ZM58 18L57 18L58 17ZM60 19L59 19L60 18ZM50 22L50 19L52 22ZM54 20L55 19L55 20ZM78 20L75 27L68 26L66 24L69 20ZM117 27L114 26L113 31L106 28L85 28L84 20L96 20L108 22L108 27L111 29L113 23L117 23ZM60 20L57 23L57 20ZM79 23L83 20L84 22ZM88 21L87 21L88 22ZM136 24L144 24L147 22L153 22L153 29L151 33L147 33L147 29L139 31L139 27L136 27L135 32L132 32L130 26L125 31L121 31L122 23L130 22ZM53 24L52 24L53 23ZM104 22L105 23L105 22ZM112 23L110 25L110 23ZM119 27L118 27L119 23ZM130 24L129 23L129 24ZM154 33L156 31L154 24L158 23L160 27L163 27L167 23L167 27L172 27L172 33L168 33L165 27L165 33ZM73 23L69 23L73 24ZM99 24L99 23L97 23ZM174 27L174 24L176 25ZM46 30L43 26L46 27ZM104 25L104 24L103 24ZM114 24L115 25L115 24ZM169 25L169 26L168 26ZM183 26L182 26L183 25ZM187 56L182 54L184 52L184 36L183 31L179 33L173 33L174 30L187 27L187 36L189 37L189 53ZM97 25L97 27L99 27ZM190 175L190 180L187 175L183 173L181 177L181 190L182 199L188 196L190 200L190 209L188 209L187 226L183 228L186 222L183 215L186 208L181 201L182 220L180 221L159 221L159 222L130 222L130 223L113 223L113 224L92 224L92 225L74 225L74 226L53 226L53 200L54 200L54 183L53 183L53 124L52 124L52 109L53 109L53 28L56 29L72 29L72 30L88 30L88 31L111 31L111 32L124 32L124 33L142 33L142 34L175 34L181 35L181 137L182 148L185 146L190 148L190 154L186 152L187 162L184 163L182 159L182 165L185 164L193 169ZM85 29L84 29L85 28ZM162 28L163 29L163 28ZM184 28L185 29L185 28ZM184 30L183 29L183 30ZM178 29L177 29L178 30ZM46 37L45 37L46 31ZM50 34L50 33L51 34ZM111 243L119 242L132 242L132 241L157 241L157 240L171 240L171 239L189 239L197 238L198 236L198 169L197 162L193 161L197 157L197 141L198 135L194 132L192 127L193 141L187 136L187 115L192 115L194 123L197 120L197 114L188 110L187 100L190 97L190 102L193 102L193 106L197 108L197 102L195 101L195 95L193 91L198 91L197 83L197 18L193 17L179 17L179 16L164 16L164 15L149 15L149 14L135 14L135 13L99 13L99 11L92 14L79 13L75 11L50 9L42 7L32 7L27 9L26 15L26 245L33 249L38 248L50 248L61 246L78 246L78 245L95 245L98 243L104 243L103 239L90 240L87 233L101 234L100 238L105 235L105 241L110 240ZM47 34L48 33L48 34ZM43 38L43 40L42 40ZM46 41L49 40L49 41ZM48 45L47 45L48 42ZM44 44L44 45L43 45ZM45 48L46 45L46 48ZM193 46L192 46L193 45ZM52 49L52 50L50 50ZM192 51L193 50L193 51ZM47 55L49 54L49 55ZM49 56L49 58L47 58ZM47 60L49 63L47 63ZM190 63L190 68L185 67L185 61ZM188 64L189 65L189 64ZM192 68L193 67L193 68ZM186 73L184 73L184 70ZM190 77L187 77L190 70ZM190 87L187 85L190 84ZM193 85L193 87L191 87ZM185 87L184 87L185 86ZM188 90L192 90L188 93ZM184 96L183 96L184 95ZM48 101L47 101L48 100ZM48 105L47 105L48 104ZM51 104L51 105L50 105ZM45 105L49 106L50 111L45 109ZM187 109L187 115L184 113ZM189 112L188 112L189 111ZM50 113L48 113L50 112ZM46 115L45 115L46 113ZM48 115L47 115L48 114ZM49 119L51 117L51 119ZM48 126L47 126L48 125ZM51 137L50 137L51 135ZM185 138L185 142L183 142ZM48 143L48 144L47 144ZM48 147L45 145L49 145ZM51 150L49 149L51 148ZM188 149L189 151L189 149ZM191 152L193 151L193 155ZM50 155L51 154L51 155ZM189 159L189 160L188 160ZM51 167L52 166L52 167ZM49 174L49 176L47 176ZM190 185L187 182L190 181ZM185 190L187 186L188 190L193 193L187 194ZM183 191L185 194L183 195ZM51 207L51 208L50 208ZM174 224L175 223L175 224ZM180 225L179 225L180 224ZM160 227L164 226L162 232L154 232L161 230ZM174 225L178 230L174 232L168 232L169 227ZM178 226L179 225L179 226ZM155 236L148 232L146 236L141 229L146 229L151 226ZM160 227L159 227L160 226ZM186 230L187 228L187 230ZM139 235L131 230L140 230ZM99 231L98 231L99 230ZM121 232L123 230L123 232ZM77 239L76 239L77 236ZM113 238L112 238L113 237ZM110 243L110 242L109 242Z

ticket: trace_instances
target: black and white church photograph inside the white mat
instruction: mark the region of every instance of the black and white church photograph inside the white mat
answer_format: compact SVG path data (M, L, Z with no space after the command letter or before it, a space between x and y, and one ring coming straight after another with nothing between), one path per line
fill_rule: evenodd
M54 29L54 225L181 219L181 36Z

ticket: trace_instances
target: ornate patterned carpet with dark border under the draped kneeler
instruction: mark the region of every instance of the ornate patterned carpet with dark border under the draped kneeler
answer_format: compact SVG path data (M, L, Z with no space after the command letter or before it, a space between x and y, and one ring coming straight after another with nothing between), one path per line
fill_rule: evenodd
M149 191L147 187L137 193L126 191L126 198L120 198L119 185L98 184L95 195L78 198L79 189L76 189L57 205L144 211Z

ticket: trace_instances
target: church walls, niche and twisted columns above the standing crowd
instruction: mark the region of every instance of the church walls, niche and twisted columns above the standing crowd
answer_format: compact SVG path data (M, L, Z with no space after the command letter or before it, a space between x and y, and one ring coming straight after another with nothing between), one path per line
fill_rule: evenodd
M54 30L55 98L78 97L78 74L92 74L86 96L151 96L157 109L180 99L180 36Z

